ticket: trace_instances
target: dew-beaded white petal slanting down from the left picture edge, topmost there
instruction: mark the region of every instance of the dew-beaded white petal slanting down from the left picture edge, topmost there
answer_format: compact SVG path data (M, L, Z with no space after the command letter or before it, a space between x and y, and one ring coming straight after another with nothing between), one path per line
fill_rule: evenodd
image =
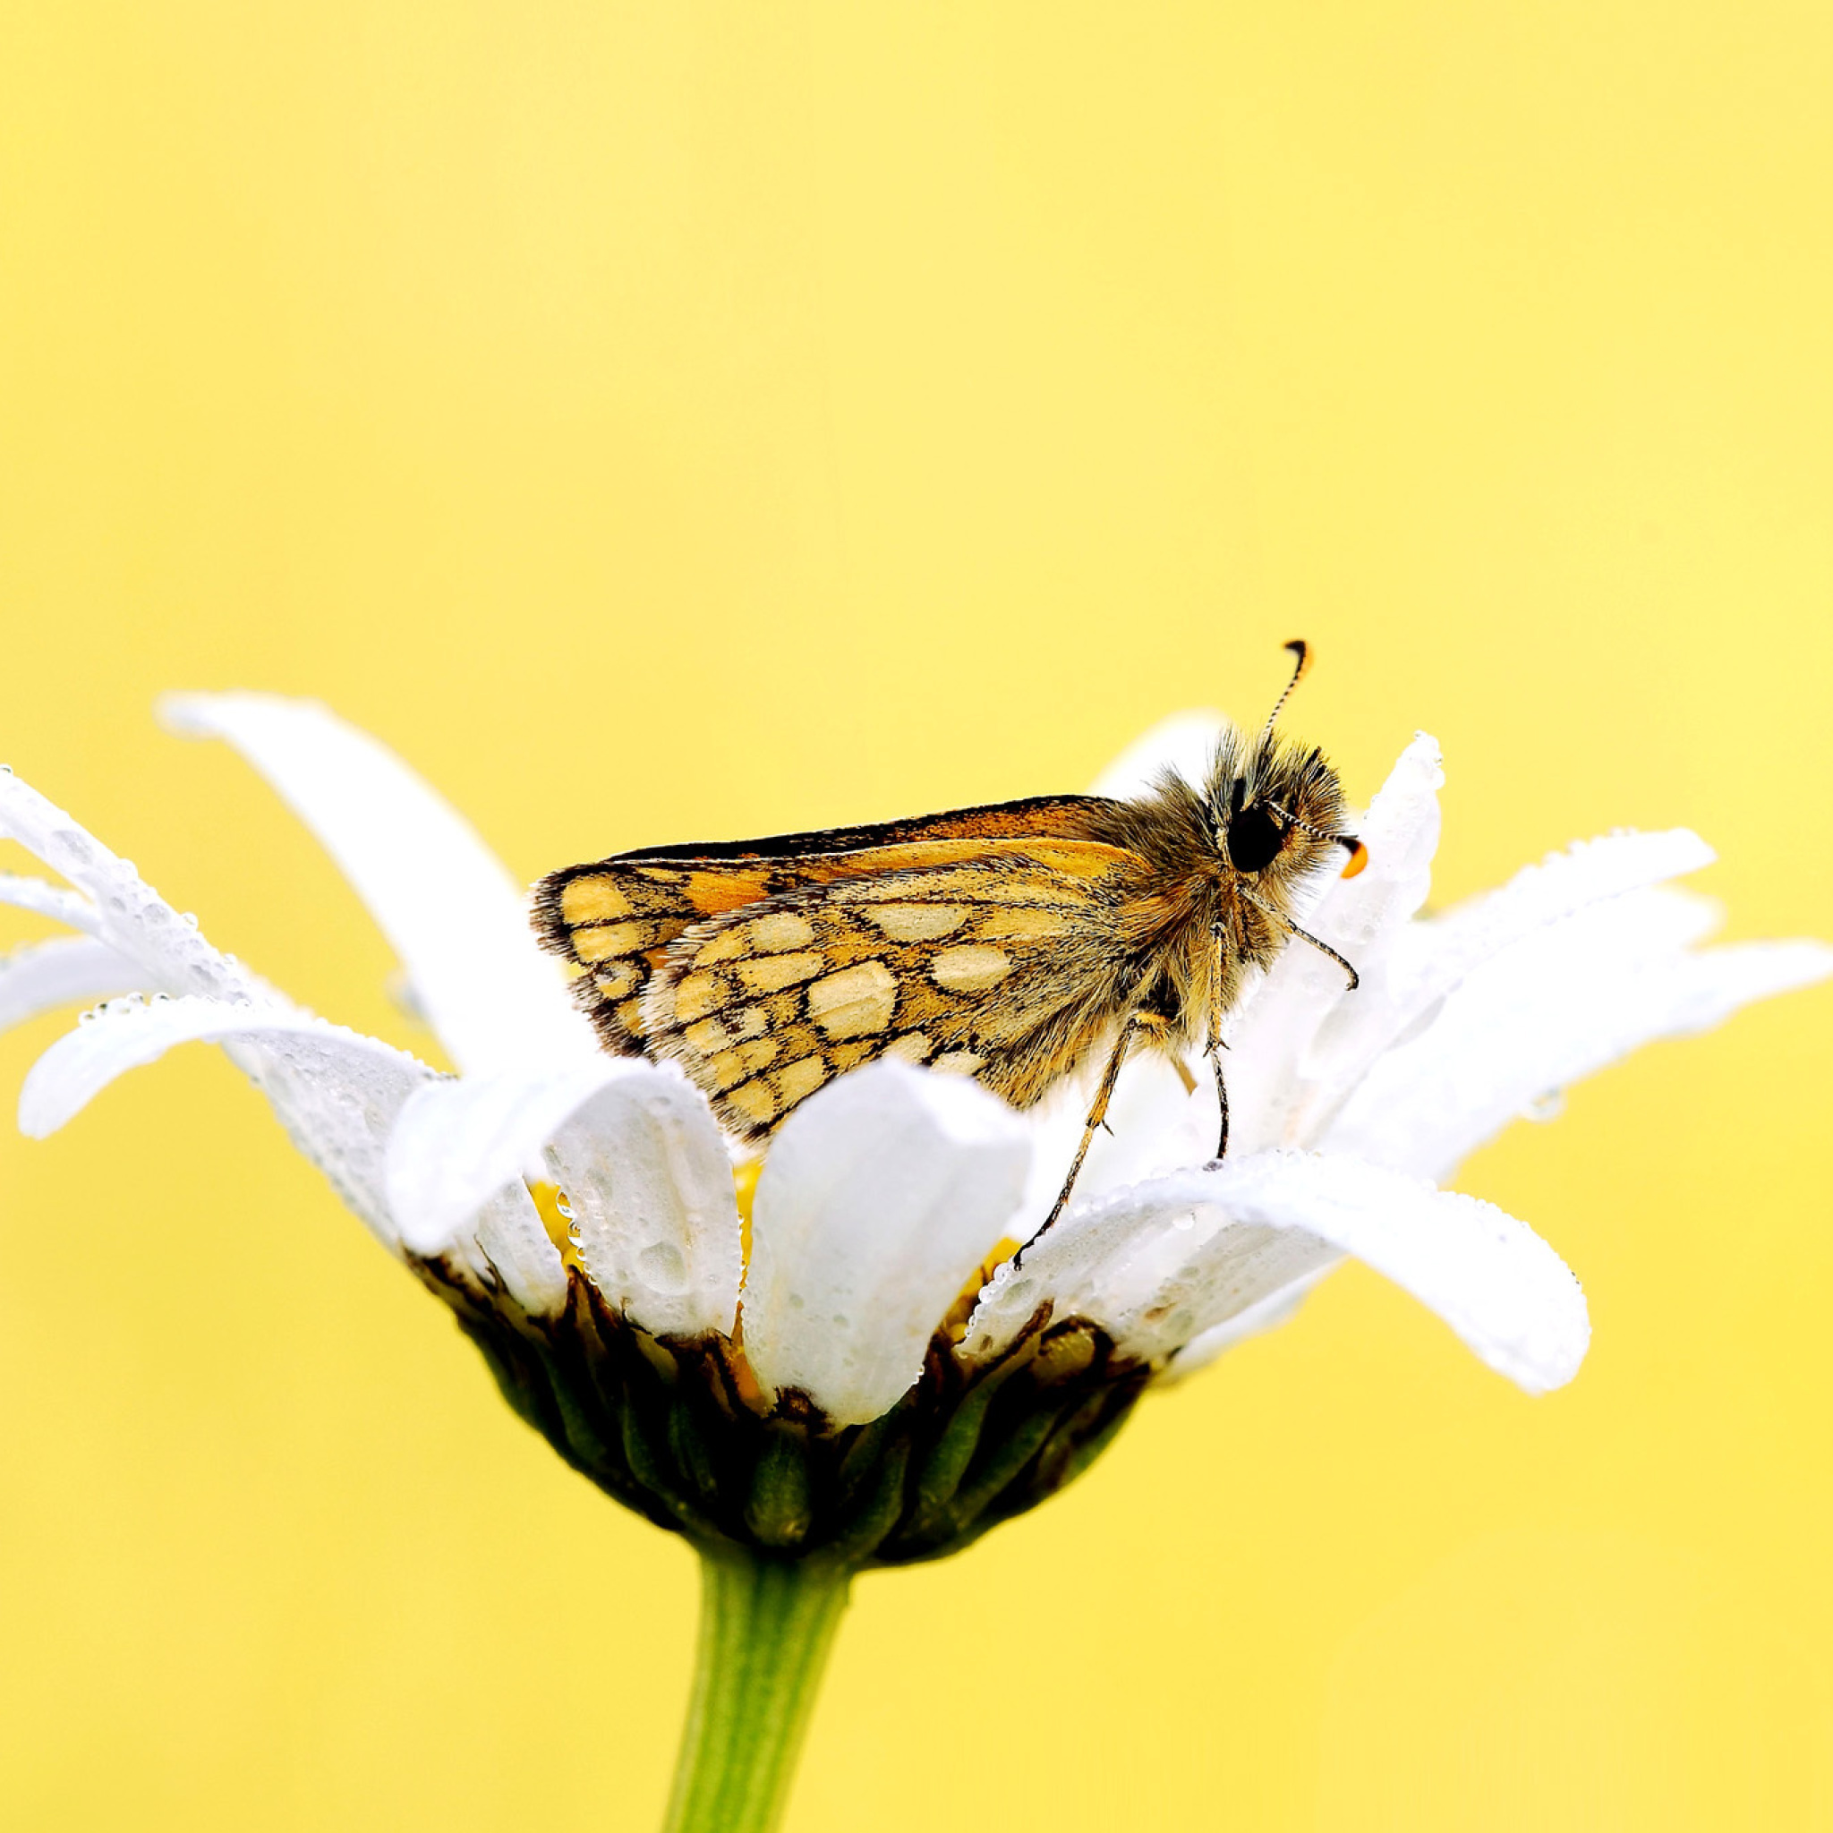
M150 990L207 993L213 999L271 997L247 968L211 948L196 924L181 918L126 860L115 858L93 834L77 827L62 808L11 772L0 772L0 834L16 840L84 893L68 907L29 907L86 929L137 960ZM13 880L16 896L11 902L24 902L27 887L35 884Z

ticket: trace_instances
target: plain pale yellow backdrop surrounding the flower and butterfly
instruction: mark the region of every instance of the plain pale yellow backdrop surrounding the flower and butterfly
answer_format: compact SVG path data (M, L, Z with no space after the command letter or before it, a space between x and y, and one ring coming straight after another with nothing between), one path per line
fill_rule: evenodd
M0 757L418 1048L156 691L319 695L533 876L1074 788L1303 634L1353 794L1443 739L1441 895L1685 821L1829 933L1829 20L15 5ZM1829 1015L1468 1166L1586 1281L1569 1391L1351 1268L865 1580L797 1833L1833 1824ZM235 1072L0 1160L0 1822L649 1828L687 1553Z

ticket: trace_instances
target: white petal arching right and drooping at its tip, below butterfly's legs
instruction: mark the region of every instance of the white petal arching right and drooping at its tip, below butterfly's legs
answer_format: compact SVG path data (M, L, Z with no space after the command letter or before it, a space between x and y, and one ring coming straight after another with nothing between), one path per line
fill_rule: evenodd
M1061 1228L1061 1245L1052 1230L988 1287L966 1353L995 1353L1043 1296L1056 1316L1089 1316L1122 1349L1158 1360L1336 1254L1404 1287L1529 1393L1571 1380L1591 1340L1578 1281L1525 1223L1356 1158L1274 1151L1180 1171ZM1037 1292L1010 1290L1025 1281Z

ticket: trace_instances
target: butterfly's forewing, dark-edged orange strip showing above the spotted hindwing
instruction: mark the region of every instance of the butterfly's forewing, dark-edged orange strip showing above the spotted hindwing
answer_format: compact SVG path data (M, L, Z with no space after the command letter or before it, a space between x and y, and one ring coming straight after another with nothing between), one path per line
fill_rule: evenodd
M614 1056L640 1056L647 1036L643 990L667 946L689 926L805 885L981 858L986 847L975 841L1081 836L1111 808L1094 796L1037 796L878 827L621 852L541 880L535 933L581 970L574 997L603 1047ZM891 862L906 847L922 851Z

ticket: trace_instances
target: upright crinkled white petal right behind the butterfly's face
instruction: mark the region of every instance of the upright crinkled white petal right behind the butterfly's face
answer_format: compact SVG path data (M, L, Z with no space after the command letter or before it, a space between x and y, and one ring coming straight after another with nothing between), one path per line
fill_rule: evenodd
M1232 1149L1252 1153L1307 1138L1312 1109L1334 1096L1338 1065L1325 1041L1329 1026L1338 1014L1380 1014L1389 1006L1395 951L1432 889L1443 783L1437 741L1419 733L1358 827L1367 865L1355 878L1327 880L1300 916L1349 960L1362 984L1351 992L1329 955L1292 940L1243 999L1223 1059Z

